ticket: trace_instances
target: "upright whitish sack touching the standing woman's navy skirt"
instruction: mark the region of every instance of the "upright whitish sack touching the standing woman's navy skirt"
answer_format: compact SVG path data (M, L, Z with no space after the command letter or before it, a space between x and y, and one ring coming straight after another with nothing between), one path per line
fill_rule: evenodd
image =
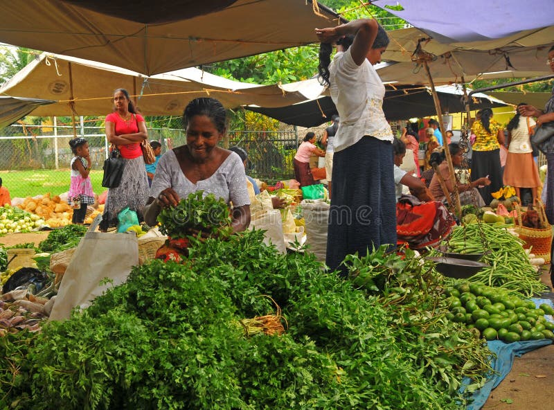
M314 253L319 262L325 262L330 205L325 201L302 201L308 252Z

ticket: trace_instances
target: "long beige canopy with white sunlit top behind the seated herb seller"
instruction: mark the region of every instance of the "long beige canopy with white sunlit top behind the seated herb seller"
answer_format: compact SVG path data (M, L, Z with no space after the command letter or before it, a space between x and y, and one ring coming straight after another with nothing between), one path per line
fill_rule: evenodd
M294 87L238 82L196 68L146 77L108 64L43 53L5 84L0 94L56 100L37 107L35 116L105 115L111 110L114 90L125 88L138 96L135 101L142 114L166 116L183 114L188 102L197 97L217 98L227 108L281 107L312 98L314 92L319 95L323 88Z

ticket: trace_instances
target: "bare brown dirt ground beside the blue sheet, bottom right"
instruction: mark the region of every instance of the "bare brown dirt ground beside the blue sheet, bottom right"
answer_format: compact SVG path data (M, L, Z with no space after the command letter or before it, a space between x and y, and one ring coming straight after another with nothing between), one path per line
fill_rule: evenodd
M548 269L543 270L541 280L551 286ZM483 409L552 410L553 394L554 345L551 344L516 357L512 371L490 393Z

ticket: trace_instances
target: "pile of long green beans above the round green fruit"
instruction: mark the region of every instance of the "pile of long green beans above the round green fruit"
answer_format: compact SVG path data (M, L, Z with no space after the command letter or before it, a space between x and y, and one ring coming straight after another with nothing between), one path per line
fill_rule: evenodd
M522 244L524 241L506 231L505 226L468 224L454 229L448 249L456 253L485 253L481 262L488 263L490 267L472 276L472 282L502 287L526 297L536 296L548 287L539 280L539 274L530 264Z

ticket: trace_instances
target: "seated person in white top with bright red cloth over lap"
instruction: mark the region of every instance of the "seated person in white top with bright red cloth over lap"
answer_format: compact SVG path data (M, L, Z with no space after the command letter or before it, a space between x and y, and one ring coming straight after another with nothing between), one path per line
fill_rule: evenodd
M449 235L456 222L442 202L433 200L421 179L400 170L399 164L406 154L406 145L401 140L393 141L393 152L397 244L406 244L411 249L432 247ZM402 195L402 185L408 186L412 195Z

